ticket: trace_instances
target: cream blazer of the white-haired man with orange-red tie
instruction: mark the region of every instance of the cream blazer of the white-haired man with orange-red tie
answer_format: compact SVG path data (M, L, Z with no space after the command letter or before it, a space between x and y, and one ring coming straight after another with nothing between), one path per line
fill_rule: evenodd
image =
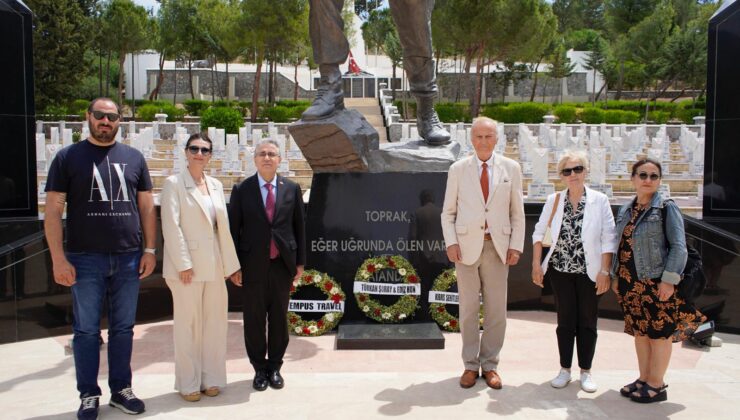
M447 176L442 207L445 245L460 245L462 263L475 263L483 252L486 222L501 261L506 251L524 250L524 199L519 164L498 153L493 158L493 186L483 201L475 155L455 162Z

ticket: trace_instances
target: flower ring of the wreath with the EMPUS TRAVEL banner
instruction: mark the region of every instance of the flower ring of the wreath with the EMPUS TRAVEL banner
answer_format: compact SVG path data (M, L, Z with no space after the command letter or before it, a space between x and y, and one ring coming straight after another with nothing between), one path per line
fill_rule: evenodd
M292 298L295 292L303 286L317 287L334 303L344 302L346 299L342 286L326 273L316 270L304 271L303 275L290 286L290 297ZM323 335L339 324L342 315L342 312L326 312L321 319L305 320L295 312L288 312L288 329L296 335L312 337Z

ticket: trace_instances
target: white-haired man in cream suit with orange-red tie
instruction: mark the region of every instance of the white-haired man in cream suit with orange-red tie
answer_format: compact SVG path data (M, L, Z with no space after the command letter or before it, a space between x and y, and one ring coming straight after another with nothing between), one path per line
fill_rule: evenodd
M506 332L507 277L524 248L522 172L517 162L493 153L496 121L476 118L471 141L475 154L450 167L442 210L447 257L455 263L460 297L465 365L460 386L475 385L482 371L486 384L500 389L497 368Z

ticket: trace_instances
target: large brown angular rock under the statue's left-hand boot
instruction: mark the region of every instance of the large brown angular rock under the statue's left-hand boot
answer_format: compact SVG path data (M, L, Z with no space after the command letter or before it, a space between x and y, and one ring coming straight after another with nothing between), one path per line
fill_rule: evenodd
M355 110L324 120L300 120L288 131L315 173L368 172L368 154L379 148L378 132Z

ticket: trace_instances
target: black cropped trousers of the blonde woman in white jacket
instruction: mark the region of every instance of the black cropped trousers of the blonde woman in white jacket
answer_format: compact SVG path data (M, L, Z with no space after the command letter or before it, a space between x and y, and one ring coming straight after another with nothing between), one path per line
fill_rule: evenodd
M586 274L563 273L548 267L546 276L555 295L558 313L558 350L560 366L570 368L573 344L578 349L578 367L591 369L596 351L596 321L599 298L596 284Z

